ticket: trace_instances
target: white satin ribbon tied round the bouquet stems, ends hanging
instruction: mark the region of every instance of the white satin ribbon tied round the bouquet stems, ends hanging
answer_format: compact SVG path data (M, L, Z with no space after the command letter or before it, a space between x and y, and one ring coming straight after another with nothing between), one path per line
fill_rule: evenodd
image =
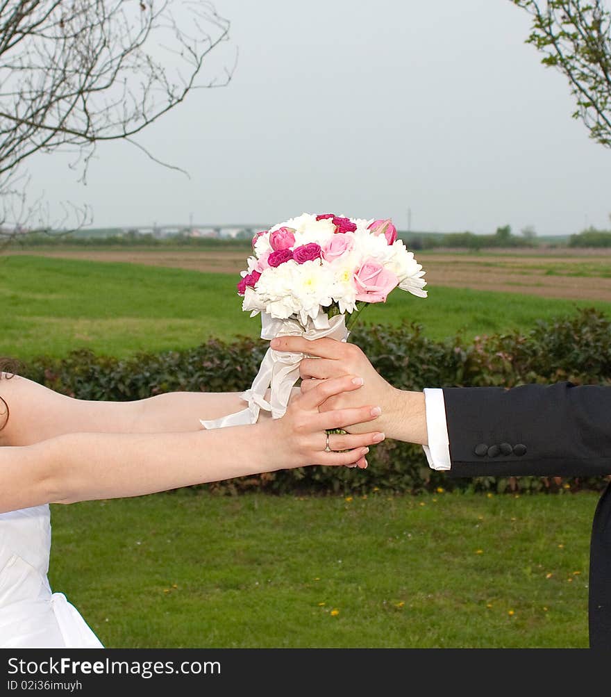
M340 342L348 339L346 329L346 317L337 314L331 319L321 312L316 319L308 319L304 327L296 319L275 319L266 312L261 313L261 339L271 341L274 337L305 337L306 339L322 339L330 337ZM259 372L252 381L249 390L243 392L240 398L248 402L247 408L233 414L223 416L220 419L202 421L201 425L206 429L219 429L224 426L240 426L254 424L258 419L259 411L264 409L272 413L272 418L279 419L284 416L288 399L291 397L293 385L299 379L299 366L304 353L288 353L287 351L274 351L268 348ZM265 399L265 392L272 388L270 401Z

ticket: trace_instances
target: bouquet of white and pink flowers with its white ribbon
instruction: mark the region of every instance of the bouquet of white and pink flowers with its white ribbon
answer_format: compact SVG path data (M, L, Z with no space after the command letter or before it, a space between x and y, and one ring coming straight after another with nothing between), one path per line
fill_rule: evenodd
M256 233L241 273L242 309L261 313L261 338L300 335L346 341L359 313L395 288L426 298L425 272L397 239L390 219L304 213ZM206 428L255 423L261 408L280 418L299 378L303 354L266 353L242 399L245 410ZM268 396L268 390L270 395Z

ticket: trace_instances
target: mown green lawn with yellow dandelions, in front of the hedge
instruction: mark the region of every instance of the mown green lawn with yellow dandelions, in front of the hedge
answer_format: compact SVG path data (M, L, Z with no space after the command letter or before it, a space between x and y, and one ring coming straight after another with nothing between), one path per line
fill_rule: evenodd
M54 505L50 578L109 648L580 648L596 498Z

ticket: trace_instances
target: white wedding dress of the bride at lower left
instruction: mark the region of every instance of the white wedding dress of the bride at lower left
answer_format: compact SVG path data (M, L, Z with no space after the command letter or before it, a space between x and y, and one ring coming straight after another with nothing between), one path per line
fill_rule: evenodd
M0 514L0 648L103 648L47 580L48 505Z

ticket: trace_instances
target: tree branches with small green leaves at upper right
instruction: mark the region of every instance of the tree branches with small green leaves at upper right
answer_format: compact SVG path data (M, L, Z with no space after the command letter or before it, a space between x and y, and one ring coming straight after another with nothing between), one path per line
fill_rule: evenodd
M590 137L611 147L611 12L601 0L511 0L532 17L527 43L569 78Z

